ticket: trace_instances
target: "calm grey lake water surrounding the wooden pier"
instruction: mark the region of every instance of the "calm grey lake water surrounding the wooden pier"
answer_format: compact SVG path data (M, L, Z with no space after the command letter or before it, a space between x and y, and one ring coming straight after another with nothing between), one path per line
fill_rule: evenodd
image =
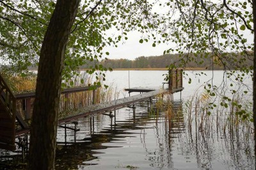
M106 73L106 84L124 98L129 96L124 91L129 82L131 88L161 88L165 73L113 71ZM234 98L243 98L250 109L252 79L244 79L243 88L235 82L230 87L232 82L223 79L223 71L205 71L207 75L200 76L186 73L193 81L189 84L189 77L184 77L182 100L180 93L174 95L172 111L157 112L140 102L135 105L135 116L131 107L125 107L116 110L116 118L100 114L79 120L76 135L67 130L65 137L64 129L58 128L56 169L255 169L252 123L230 123L230 114L224 114L228 110L223 108L207 116L196 105L189 110L186 102L192 97L199 102L209 98L202 85L212 80L216 86L227 84L216 92L221 95L231 97L232 89L248 91ZM73 124L67 126L74 128Z

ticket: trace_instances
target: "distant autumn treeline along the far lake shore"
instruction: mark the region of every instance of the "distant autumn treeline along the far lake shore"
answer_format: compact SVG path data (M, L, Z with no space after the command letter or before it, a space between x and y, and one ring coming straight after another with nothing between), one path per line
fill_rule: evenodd
M251 52L249 52L251 54ZM209 54L208 54L209 55ZM186 58L186 67L188 68L205 68L205 70L213 69L221 70L223 69L223 63L221 63L220 59L217 57L209 57L205 56L205 54L198 54L196 56ZM244 58L244 57L243 57ZM252 66L252 59L246 56L246 59L243 59L243 63L239 63L239 59L241 59L240 54L226 54L223 61L228 68L234 68L237 66ZM166 66L172 63L180 63L179 54L164 54L162 56L150 56L145 57L141 56L134 60L129 59L104 59L100 61L100 65L105 66L106 68L166 68ZM214 63L214 64L212 64ZM89 68L93 66L95 63L88 63L88 65L81 66L81 68Z

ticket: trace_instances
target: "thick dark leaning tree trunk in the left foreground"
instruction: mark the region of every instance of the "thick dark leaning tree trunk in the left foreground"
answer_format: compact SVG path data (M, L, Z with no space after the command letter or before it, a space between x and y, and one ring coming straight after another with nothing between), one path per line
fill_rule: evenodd
M79 0L58 0L44 36L31 123L29 169L54 169L61 71Z

